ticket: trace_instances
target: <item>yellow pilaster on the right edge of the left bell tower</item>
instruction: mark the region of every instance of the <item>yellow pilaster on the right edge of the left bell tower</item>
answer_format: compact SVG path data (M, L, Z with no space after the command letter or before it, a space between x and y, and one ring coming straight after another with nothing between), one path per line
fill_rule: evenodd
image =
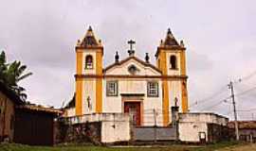
M96 53L96 75L102 76L102 52ZM102 78L96 79L96 112L102 112Z

